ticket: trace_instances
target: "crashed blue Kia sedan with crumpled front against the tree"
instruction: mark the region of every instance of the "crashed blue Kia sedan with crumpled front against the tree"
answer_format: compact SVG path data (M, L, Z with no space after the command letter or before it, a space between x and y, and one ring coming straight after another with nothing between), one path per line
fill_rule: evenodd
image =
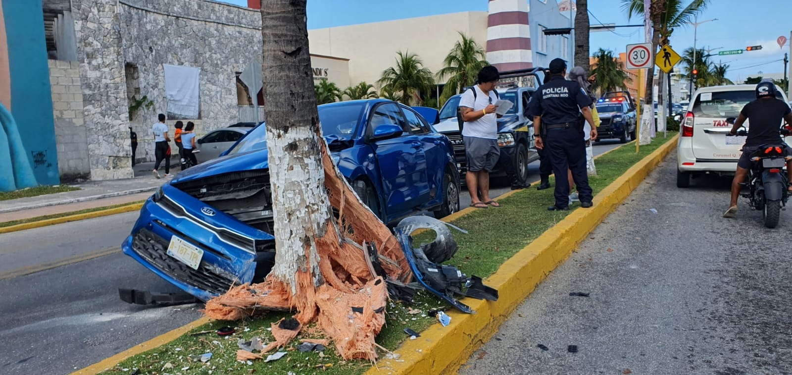
M415 109L371 99L320 105L318 114L338 169L384 223L459 210L451 143ZM124 253L201 300L263 280L275 258L265 132L259 125L158 189Z

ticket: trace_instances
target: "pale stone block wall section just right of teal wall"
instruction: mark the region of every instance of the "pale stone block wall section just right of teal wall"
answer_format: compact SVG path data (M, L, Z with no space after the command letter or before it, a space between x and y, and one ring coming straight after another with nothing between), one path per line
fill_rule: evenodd
M80 64L48 60L58 171L63 183L90 177L88 138L82 115Z

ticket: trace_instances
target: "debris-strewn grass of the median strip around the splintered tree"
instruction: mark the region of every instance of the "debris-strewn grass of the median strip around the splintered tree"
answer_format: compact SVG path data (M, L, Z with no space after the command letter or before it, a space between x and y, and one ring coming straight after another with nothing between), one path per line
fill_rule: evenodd
M668 140L672 140L672 136L669 136ZM665 141L667 140L657 138L653 144L642 146L638 155L634 148L628 145L596 159L598 175L589 179L594 193L599 193ZM547 211L546 207L552 205L553 199L552 189L543 191L525 189L500 200L502 207L499 209L476 210L454 220L453 224L466 229L469 234L454 233L459 251L447 263L458 266L469 276L475 274L487 277L493 274L505 260L569 214L569 212ZM571 208L576 209L579 206L576 203ZM428 233L418 235L417 240L427 240L429 236ZM390 303L386 316L387 325L377 337L377 342L389 350L395 350L401 342L409 339L409 336L403 332L404 328L421 332L436 323L428 316L428 310L435 308L447 309L447 305L428 296L427 293L419 293L413 304L409 306ZM110 369L108 373L124 373L124 369L128 371L139 369L141 373L152 373L172 368L173 371L183 369L181 373L246 373L254 370L255 373L353 374L364 373L369 369L370 365L367 362L341 361L335 354L332 344L325 351L323 358L316 353L299 353L295 350L296 342L292 342L287 348L287 356L276 362L258 361L248 364L235 360L238 349L237 339L249 340L254 335L261 335L265 341L271 341L272 336L268 335L265 328L269 327L269 323L284 316L288 315L270 314L264 318L242 322L208 323L204 327L196 328L195 331L211 331L229 324L238 328L237 333L230 339L221 339L214 333L205 336L184 335L165 346L128 358ZM321 336L321 334L311 336L307 333L311 331L308 329L301 336L307 339ZM193 362L189 359L190 355L200 356L207 352L213 353L211 361L207 363Z

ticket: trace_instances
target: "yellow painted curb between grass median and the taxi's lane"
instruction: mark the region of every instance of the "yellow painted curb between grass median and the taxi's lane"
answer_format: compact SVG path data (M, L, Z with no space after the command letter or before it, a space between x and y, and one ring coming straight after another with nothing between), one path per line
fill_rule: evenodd
M594 197L591 209L576 209L564 220L509 258L487 285L498 289L497 302L466 299L475 314L451 311L451 324L433 324L421 337L407 340L396 353L398 360L382 359L366 375L378 373L456 373L478 347L487 342L518 304L533 292L547 274L565 261L577 244L610 215L646 175L676 148L676 137L647 155ZM507 193L508 194L508 193ZM459 212L460 214L462 213Z

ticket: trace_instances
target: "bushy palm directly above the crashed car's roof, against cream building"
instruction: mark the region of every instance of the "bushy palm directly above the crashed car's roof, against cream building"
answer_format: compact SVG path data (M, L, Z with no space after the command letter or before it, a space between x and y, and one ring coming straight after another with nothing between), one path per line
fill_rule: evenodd
M379 78L379 85L383 90L402 93L402 103L409 104L409 98L417 97L421 101L421 91L429 90L434 86L432 71L424 67L421 58L414 53L396 52L396 67L389 67L383 71Z

